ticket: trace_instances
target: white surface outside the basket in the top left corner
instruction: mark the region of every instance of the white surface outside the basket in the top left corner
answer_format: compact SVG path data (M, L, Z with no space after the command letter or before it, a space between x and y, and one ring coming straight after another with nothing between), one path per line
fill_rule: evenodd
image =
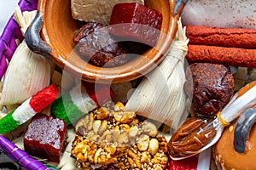
M18 2L18 0L0 0L0 35L2 35L10 16L14 14Z

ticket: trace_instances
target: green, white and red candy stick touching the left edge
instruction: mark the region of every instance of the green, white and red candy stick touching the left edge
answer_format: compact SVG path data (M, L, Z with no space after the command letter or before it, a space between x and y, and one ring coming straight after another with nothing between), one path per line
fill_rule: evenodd
M36 113L43 111L50 105L58 95L58 88L55 84L49 85L31 98L26 99L17 109L9 112L0 120L0 133L8 133L27 122Z

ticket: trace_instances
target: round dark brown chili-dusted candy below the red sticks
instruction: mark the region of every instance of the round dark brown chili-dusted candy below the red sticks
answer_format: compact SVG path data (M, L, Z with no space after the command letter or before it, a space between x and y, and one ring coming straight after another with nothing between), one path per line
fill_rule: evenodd
M186 93L195 113L214 116L224 108L234 93L234 77L224 65L195 63L186 69Z

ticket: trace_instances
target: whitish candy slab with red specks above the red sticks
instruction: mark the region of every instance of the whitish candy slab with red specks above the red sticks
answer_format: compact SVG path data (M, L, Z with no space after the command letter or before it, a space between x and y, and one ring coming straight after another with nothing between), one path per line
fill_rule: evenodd
M256 28L255 0L189 0L183 26Z

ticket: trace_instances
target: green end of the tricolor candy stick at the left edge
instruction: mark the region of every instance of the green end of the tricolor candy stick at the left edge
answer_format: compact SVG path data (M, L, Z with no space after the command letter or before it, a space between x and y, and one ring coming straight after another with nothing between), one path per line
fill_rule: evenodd
M13 113L14 111L9 112L7 116L4 116L0 120L0 133L9 133L10 131L14 130L16 127L20 126L19 122L16 122Z

